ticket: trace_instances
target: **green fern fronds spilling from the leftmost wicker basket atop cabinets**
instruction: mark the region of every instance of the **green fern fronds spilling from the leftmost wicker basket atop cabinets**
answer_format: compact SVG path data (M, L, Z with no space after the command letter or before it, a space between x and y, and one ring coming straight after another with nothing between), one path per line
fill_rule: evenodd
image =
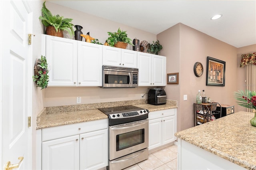
M54 26L56 32L60 30L66 30L70 36L74 36L74 29L72 24L71 18L64 18L63 16L55 15L53 16L50 10L48 10L45 6L45 2L43 3L42 7L42 16L39 17L40 20L42 20L42 24L46 27L48 26Z

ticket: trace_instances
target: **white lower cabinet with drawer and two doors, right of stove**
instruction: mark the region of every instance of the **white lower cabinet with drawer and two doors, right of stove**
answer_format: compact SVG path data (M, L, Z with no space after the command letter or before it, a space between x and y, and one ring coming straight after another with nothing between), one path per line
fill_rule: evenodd
M176 140L176 112L176 109L166 109L149 113L148 150Z

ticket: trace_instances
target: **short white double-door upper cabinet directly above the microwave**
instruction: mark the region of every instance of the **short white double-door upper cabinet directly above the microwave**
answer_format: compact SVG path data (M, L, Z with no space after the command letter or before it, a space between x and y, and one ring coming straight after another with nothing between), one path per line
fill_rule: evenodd
M137 52L104 45L103 65L137 68Z

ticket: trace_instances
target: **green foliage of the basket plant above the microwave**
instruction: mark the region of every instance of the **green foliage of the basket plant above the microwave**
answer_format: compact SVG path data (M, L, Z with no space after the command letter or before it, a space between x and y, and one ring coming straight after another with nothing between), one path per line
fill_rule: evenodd
M108 45L111 47L114 47L114 45L117 42L124 42L124 43L128 43L130 45L133 45L131 42L132 40L127 37L126 32L127 31L121 31L120 28L118 28L117 32L108 32L109 37L106 40L108 42Z

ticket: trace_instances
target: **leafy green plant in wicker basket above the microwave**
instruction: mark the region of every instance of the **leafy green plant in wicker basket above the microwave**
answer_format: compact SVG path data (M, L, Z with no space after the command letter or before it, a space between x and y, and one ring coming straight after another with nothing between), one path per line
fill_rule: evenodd
M126 31L121 31L120 28L118 28L117 32L108 32L108 35L109 37L106 41L111 47L126 49L127 44L133 45L132 40L127 37Z

